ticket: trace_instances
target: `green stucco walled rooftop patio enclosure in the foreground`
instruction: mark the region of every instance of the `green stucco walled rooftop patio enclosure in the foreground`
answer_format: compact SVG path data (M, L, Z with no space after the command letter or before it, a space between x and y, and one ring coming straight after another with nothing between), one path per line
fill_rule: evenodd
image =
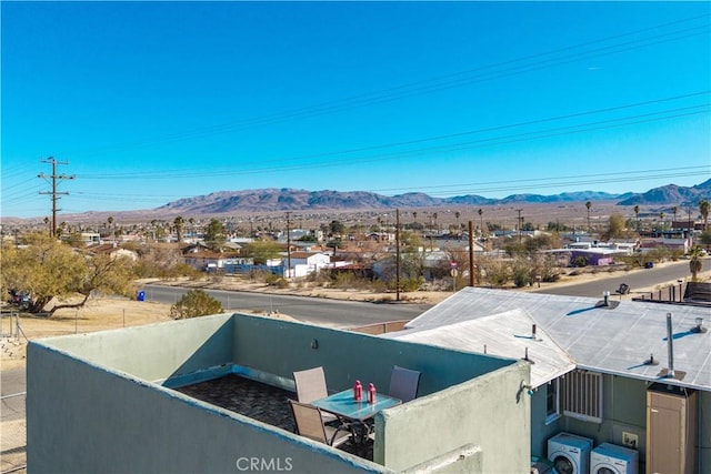
M421 373L418 397L375 415L372 461L179 390L237 374L296 397L292 373L322 366L331 392L357 379L384 391L394 365ZM529 384L519 357L247 314L34 340L28 471L523 473Z

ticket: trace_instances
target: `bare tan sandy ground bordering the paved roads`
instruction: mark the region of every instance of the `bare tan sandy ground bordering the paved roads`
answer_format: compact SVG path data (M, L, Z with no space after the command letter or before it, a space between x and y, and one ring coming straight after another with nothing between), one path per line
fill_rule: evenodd
M664 263L660 264L664 265ZM620 272L598 271L597 273L583 273L578 275L564 275L555 283L544 283L548 288L563 286L582 281L598 280L618 276ZM700 280L711 280L711 271L699 275ZM310 288L307 284L299 284L297 288L277 289L264 283L251 283L237 278L223 278L220 282L203 281L173 281L163 282L171 285L183 285L189 288L200 288L203 290L241 290L252 292L270 292L280 294L299 294L312 297L329 297L349 301L387 301L395 300L394 293L373 293L364 290L338 290L322 286ZM530 290L530 289L529 289ZM638 291L652 291L652 289L635 289ZM517 291L527 291L517 290ZM413 303L437 304L452 294L451 291L418 291L401 293L402 301ZM629 297L629 296L627 296ZM274 316L262 314L266 316ZM276 317L288 319L288 315L277 315ZM170 321L170 305L151 302L139 302L120 297L90 299L86 306L80 310L59 310L48 317L28 316L19 317L20 331L9 316L3 315L1 327L3 337L0 342L0 370L12 370L24 367L27 341L34 339L88 333L93 331L121 329L142 324L153 324ZM6 337L12 332L16 337ZM19 336L19 337L18 337Z

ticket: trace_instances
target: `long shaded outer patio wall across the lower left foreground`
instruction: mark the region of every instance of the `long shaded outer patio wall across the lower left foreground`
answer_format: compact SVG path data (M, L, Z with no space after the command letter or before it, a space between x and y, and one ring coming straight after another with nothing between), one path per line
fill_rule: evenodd
M27 386L28 472L237 473L252 460L260 472L384 471L39 344Z

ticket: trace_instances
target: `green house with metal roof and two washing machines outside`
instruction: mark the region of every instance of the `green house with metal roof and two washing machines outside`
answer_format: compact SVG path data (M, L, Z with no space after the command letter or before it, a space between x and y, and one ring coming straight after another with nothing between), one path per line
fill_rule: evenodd
M708 306L465 288L382 337L530 361L533 456L567 432L627 444L641 465L685 453L669 472L701 473L711 472L710 320ZM681 418L654 421L659 392L689 400Z

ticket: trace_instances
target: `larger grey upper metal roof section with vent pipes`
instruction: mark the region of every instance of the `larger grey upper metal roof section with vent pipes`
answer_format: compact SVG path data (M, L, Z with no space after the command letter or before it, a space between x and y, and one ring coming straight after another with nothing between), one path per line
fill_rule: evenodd
M704 333L691 331L697 325L697 317L703 319L705 327L711 326L708 307L612 301L612 297L610 301L615 304L605 307L599 304L600 300L465 288L422 313L405 327L422 332L481 320L481 326L491 325L487 337L498 337L500 344L509 345L508 350L517 353L520 341L512 340L508 334L521 331L520 316L489 316L523 312L580 369L648 381L664 380L674 385L711 391L711 329ZM669 367L667 313L672 314L674 371L681 380L669 380L661 375ZM479 330L483 331L483 327ZM474 345L480 345L478 352L481 352L481 341L475 339L481 335L478 334L474 332L471 337L474 337ZM452 334L449 337L451 342L448 343L445 336L438 335L438 345L447 343L455 347L458 339ZM420 342L427 342L425 337ZM651 354L659 365L644 364ZM559 361L560 364L563 362L564 357Z

